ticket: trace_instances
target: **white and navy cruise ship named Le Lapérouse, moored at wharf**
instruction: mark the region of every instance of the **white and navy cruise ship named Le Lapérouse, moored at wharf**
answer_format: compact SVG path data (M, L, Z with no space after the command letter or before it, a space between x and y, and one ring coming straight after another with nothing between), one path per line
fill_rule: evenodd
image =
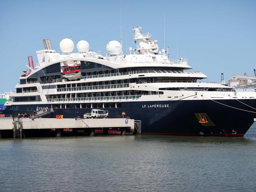
M243 136L256 118L256 92L235 92L207 82L192 71L187 59L169 59L150 33L134 26L135 47L123 54L122 43L110 41L107 55L89 50L87 41L63 39L62 54L49 39L37 51L38 65L28 57L28 70L19 78L13 100L4 114L32 114L47 108L53 113L83 117L91 109L109 111L109 118L141 120L142 134ZM30 65L31 63L31 65Z

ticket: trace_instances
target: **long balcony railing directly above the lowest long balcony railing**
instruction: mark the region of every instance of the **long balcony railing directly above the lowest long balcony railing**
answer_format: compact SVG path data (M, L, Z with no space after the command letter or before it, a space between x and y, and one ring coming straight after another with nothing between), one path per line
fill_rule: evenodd
M113 85L94 85L94 86L86 86L86 87L65 87L58 88L57 91L78 91L78 90L95 90L95 89L117 89L117 88L127 88L129 87L129 83L123 84L113 84Z

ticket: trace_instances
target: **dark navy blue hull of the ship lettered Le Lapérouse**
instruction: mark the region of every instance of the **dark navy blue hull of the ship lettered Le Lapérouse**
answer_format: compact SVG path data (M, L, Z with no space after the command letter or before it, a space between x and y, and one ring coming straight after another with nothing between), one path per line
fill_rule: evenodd
M255 99L240 101L256 108ZM122 118L122 111L125 111L126 116L141 120L142 134L243 136L253 124L256 110L237 100L218 100L218 102L247 111L227 107L211 100L122 102L121 108L105 108L104 110L109 111L108 118ZM20 113L32 112L26 111L26 105L18 107ZM51 105L34 105L33 109L37 107L50 108ZM13 110L9 108L7 107L3 113L12 114ZM83 114L88 112L91 112L91 108L76 109L75 103L69 103L69 109L55 109L54 113L44 117L55 118L57 114L63 114L64 118L78 116L82 118ZM201 118L204 120L202 121Z

